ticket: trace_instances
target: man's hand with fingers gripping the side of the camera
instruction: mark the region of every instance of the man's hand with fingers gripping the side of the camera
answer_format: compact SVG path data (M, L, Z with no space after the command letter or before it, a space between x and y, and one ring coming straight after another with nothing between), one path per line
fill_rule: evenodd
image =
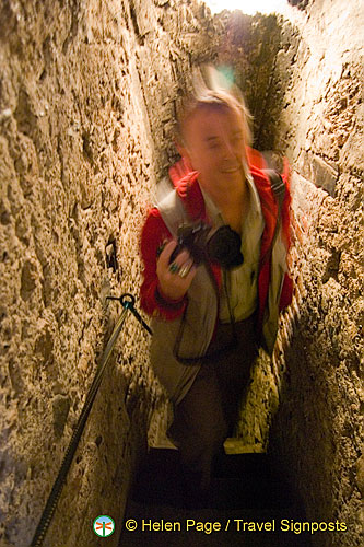
M176 240L169 241L156 263L161 295L171 300L180 300L184 298L197 270L187 249L178 253L173 263L169 264L171 255L176 246Z

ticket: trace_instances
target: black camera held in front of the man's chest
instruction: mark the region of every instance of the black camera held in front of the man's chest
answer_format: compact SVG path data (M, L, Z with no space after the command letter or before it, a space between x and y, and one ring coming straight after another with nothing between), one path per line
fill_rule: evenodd
M204 222L181 224L177 231L177 241L178 245L171 255L169 264L183 248L187 248L197 266L203 261L212 261L231 269L243 264L240 236L227 224L218 229Z

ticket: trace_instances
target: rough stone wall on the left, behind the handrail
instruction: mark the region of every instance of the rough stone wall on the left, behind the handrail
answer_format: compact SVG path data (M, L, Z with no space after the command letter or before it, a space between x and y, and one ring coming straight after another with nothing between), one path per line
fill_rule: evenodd
M120 313L105 296L138 295L139 232L172 153L162 127L209 24L187 1L1 4L1 545L33 536ZM99 514L115 517L117 544L164 400L146 349L129 318L45 545L98 545Z

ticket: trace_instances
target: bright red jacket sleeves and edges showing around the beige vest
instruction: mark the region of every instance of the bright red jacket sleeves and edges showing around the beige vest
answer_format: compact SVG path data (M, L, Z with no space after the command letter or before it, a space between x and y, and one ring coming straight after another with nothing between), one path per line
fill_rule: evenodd
M248 150L248 152L249 168L260 197L261 211L265 219L265 230L261 237L260 265L258 275L258 324L261 327L268 298L270 280L270 246L274 235L278 205L271 190L270 181L260 168L260 166L263 166L260 156L256 155L255 151L253 150ZM191 171L185 160L180 160L176 165L171 167L169 177L191 220L207 220L204 201L197 179L198 173ZM287 189L282 205L282 230L286 246L289 248L289 210L291 196L289 191L287 173L285 175L282 175L282 178ZM183 300L174 302L163 301L161 298L158 298L158 291L156 290L158 286L158 279L156 276L156 260L158 248L163 245L163 242L165 240L171 238L172 234L163 222L160 211L156 208L151 209L141 233L141 255L144 264L143 282L140 290L141 306L149 315L157 315L164 317L166 321L174 319L181 315L188 303L188 292ZM213 271L218 286L221 287L222 276L220 267L215 264L211 264L211 269ZM291 300L292 281L289 276L285 275L279 309L282 310L283 307L289 305L291 303Z

